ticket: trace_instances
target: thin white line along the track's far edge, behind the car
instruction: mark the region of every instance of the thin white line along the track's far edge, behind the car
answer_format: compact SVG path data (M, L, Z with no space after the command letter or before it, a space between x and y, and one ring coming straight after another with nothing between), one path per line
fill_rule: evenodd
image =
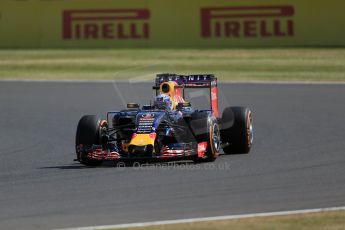
M44 80L44 79L0 79L1 82L9 82L9 83L89 83L89 84L97 84L97 83L153 83L153 80L68 80L68 79L61 79L61 80ZM218 83L220 84L273 84L273 85L345 85L344 81L255 81L255 80L248 80L248 81L236 81L236 80L219 80Z

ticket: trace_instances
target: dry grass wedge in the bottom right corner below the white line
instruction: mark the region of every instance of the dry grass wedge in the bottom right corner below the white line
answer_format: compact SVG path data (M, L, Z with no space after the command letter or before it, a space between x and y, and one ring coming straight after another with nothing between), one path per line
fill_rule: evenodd
M345 211L124 228L128 230L344 230ZM122 229L123 230L123 229Z

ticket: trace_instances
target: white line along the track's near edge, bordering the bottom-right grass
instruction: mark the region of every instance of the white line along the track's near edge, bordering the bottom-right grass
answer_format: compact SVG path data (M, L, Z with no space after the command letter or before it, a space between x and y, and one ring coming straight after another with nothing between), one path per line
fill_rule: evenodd
M240 215L227 215L227 216L214 216L214 217L201 217L201 218L190 218L190 219L151 221L151 222L131 223L131 224L61 228L61 229L56 229L56 230L107 230L107 229L119 229L119 228L138 228L138 227L148 227L148 226L167 225L167 224L185 224L185 223L194 223L194 222L234 220L234 219L244 219L244 218L254 218L254 217L285 216L285 215L294 215L294 214L306 214L306 213L341 211L341 210L345 210L345 206L292 210L292 211L263 212L263 213L240 214Z

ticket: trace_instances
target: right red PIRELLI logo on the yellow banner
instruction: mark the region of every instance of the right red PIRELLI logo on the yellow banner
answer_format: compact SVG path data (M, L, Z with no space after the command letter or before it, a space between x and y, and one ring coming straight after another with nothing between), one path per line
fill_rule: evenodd
M294 36L293 6L210 7L201 9L204 38Z

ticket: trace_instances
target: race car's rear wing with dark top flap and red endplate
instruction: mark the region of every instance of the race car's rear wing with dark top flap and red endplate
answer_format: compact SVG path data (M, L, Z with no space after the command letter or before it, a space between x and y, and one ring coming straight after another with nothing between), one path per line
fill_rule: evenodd
M194 75L179 75L179 74L157 74L155 85L153 89L156 90L156 95L159 93L160 85L164 82L174 81L177 83L177 88L209 88L211 109L216 118L219 118L218 113L218 86L217 78L213 74L194 74Z

